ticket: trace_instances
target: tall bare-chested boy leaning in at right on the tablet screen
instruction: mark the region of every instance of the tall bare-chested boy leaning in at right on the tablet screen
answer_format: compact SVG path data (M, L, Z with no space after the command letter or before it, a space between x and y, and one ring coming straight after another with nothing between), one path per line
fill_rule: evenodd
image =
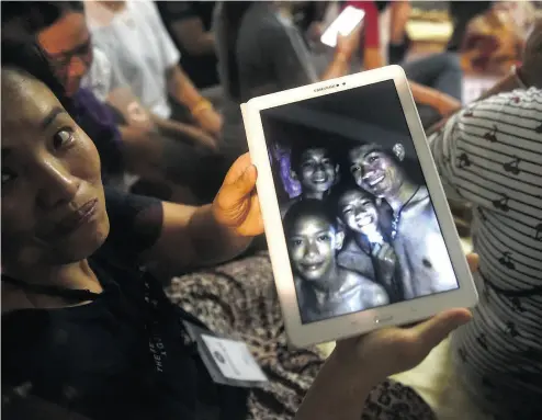
M380 145L357 146L349 152L350 172L364 191L393 209L391 239L397 254L405 298L458 287L429 192L416 184L399 163L398 152Z

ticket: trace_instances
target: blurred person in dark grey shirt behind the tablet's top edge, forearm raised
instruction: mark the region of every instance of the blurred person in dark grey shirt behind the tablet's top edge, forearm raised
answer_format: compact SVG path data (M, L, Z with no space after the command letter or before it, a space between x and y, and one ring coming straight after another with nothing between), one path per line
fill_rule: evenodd
M307 45L293 22L304 2L225 1L216 8L214 32L225 92L223 147L245 151L239 104L267 93L346 75L359 34L340 38L318 77Z

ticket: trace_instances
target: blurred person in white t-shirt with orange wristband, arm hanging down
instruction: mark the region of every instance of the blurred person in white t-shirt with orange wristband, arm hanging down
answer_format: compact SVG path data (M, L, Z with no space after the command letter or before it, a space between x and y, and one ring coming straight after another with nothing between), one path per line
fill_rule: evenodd
M86 9L93 43L146 109L218 137L222 117L180 67L179 50L153 1L86 1Z

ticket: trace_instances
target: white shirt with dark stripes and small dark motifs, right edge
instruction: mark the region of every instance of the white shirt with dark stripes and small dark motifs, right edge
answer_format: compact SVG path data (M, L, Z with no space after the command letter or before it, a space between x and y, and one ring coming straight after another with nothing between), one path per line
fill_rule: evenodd
M542 90L474 103L429 141L449 197L474 205L481 302L456 372L496 418L542 419Z

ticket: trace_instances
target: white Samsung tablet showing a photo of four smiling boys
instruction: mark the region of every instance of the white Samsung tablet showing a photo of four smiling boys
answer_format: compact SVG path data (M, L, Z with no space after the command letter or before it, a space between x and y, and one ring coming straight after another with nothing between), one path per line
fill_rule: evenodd
M255 98L241 110L293 345L476 304L400 67Z

